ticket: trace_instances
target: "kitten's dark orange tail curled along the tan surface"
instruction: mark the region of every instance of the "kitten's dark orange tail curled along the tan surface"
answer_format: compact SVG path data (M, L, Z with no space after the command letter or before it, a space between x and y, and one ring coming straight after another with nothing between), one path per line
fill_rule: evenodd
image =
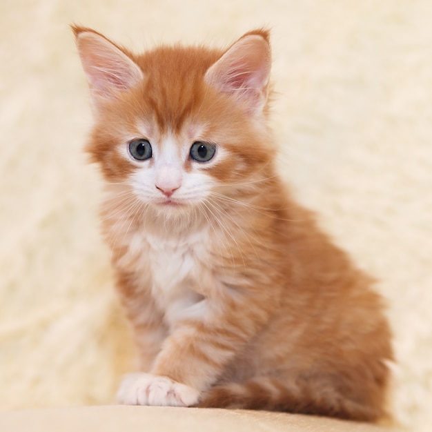
M198 404L202 408L259 409L314 415L345 420L375 422L384 416L380 406L355 402L322 385L295 385L288 388L275 377L254 377L242 383L221 384L210 388Z

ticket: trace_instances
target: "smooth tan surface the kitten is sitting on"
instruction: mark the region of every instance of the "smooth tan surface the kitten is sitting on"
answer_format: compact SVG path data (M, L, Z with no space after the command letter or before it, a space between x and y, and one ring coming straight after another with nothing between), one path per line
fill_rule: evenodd
M391 429L306 415L148 406L91 406L0 414L13 432L391 432Z

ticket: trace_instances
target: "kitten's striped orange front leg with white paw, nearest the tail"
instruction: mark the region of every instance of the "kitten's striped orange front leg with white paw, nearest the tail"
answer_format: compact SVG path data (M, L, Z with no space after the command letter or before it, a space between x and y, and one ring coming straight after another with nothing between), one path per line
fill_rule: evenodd
M126 377L124 404L192 406L268 317L262 300L208 302L202 317L185 319L164 342L151 374ZM247 307L244 306L247 304Z

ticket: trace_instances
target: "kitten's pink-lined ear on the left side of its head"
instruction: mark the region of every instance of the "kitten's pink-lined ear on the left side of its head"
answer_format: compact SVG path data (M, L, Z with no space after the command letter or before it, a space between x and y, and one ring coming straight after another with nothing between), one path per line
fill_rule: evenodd
M143 79L137 64L106 37L88 28L72 26L72 31L95 106Z

